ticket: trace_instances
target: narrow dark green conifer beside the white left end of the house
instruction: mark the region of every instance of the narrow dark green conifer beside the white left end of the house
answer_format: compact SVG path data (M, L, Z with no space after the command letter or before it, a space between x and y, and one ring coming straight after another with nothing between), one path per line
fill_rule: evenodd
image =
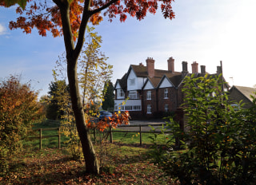
M114 110L114 86L111 81L106 81L104 85L105 92L102 100L103 110Z

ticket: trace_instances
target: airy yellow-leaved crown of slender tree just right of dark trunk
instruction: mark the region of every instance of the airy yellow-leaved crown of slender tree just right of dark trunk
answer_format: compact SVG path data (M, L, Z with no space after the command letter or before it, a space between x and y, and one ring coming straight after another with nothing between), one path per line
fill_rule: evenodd
M102 99L102 89L113 73L113 66L106 63L108 57L101 52L102 37L94 32L94 27L87 26L86 42L78 59L78 74L82 89L82 104Z

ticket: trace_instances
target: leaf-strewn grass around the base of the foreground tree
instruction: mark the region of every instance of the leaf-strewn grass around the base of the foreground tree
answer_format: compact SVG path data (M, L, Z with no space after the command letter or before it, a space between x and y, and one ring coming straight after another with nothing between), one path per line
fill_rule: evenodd
M65 149L46 148L16 156L0 184L175 184L151 162L149 148L119 144L104 148L102 155L102 146L95 146L98 159L104 159L99 175L86 174L84 161L71 159Z

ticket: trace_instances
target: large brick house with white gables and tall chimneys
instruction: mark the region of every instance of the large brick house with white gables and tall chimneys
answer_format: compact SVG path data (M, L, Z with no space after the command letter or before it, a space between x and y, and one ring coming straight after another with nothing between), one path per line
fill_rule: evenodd
M201 65L200 73L197 62L191 66L196 77L206 74L205 65ZM221 73L219 66L218 73ZM130 65L114 85L114 111L127 110L132 118L162 117L175 112L183 103L182 81L188 75L191 73L187 70L187 62L182 61L182 71L176 72L172 57L167 60L167 70L154 69L153 58L146 59L146 66L142 63Z

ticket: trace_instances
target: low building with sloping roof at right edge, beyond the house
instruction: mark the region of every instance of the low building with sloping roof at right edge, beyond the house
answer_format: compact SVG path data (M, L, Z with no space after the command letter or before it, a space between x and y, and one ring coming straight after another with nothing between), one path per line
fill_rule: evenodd
M238 104L241 100L245 103L243 108L250 108L253 105L253 96L256 89L234 85L230 88L229 99L231 104Z

